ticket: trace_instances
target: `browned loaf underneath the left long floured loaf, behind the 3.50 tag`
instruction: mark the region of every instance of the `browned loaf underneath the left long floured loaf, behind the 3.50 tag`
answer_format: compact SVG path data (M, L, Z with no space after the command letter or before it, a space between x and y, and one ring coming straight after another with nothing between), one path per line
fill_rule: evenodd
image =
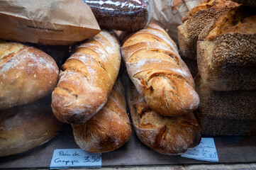
M87 123L72 125L77 145L87 152L110 152L130 139L130 120L126 114L121 81L113 86L108 101Z

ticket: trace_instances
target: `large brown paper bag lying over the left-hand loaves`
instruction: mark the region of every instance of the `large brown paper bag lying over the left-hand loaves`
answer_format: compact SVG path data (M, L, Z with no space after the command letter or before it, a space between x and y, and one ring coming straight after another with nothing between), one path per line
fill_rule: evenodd
M99 33L82 0L1 0L0 38L43 45L67 45Z

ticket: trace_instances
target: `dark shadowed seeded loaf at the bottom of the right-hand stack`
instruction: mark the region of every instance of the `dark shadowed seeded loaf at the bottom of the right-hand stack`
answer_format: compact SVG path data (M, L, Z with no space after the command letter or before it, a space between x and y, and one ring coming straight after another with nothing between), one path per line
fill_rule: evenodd
M199 75L195 79L202 135L256 135L256 91L213 91Z

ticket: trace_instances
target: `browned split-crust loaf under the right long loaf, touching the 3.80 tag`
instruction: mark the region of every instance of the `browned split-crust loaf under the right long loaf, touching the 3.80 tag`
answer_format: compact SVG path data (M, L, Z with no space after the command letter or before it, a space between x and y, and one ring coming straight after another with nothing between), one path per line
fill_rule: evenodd
M161 154L182 154L199 145L199 124L193 113L166 117L148 106L134 86L128 91L130 115L138 138Z

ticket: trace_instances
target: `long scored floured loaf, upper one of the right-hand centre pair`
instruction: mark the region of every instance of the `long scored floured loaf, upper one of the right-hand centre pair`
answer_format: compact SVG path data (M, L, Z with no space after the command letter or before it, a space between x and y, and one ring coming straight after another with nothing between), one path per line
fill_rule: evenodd
M191 113L199 105L194 80L169 35L150 23L121 48L130 79L160 115Z

